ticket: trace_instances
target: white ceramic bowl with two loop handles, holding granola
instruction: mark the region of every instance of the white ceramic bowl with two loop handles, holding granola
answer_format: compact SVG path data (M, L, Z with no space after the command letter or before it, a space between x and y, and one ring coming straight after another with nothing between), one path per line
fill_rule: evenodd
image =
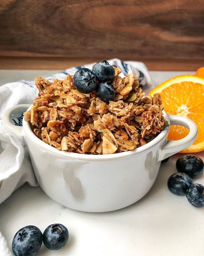
M28 147L33 170L45 193L59 204L79 211L108 212L137 202L154 184L161 160L187 148L197 136L193 121L164 112L171 124L190 130L185 138L166 140L168 124L154 140L134 150L111 155L71 153L41 141L24 119L23 127L11 123L12 113L22 113L29 107L23 104L7 110L4 127Z

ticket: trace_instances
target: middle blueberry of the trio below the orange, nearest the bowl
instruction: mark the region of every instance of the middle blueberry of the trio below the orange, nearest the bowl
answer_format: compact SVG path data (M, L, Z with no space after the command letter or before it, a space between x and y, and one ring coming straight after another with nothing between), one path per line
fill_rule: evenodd
M167 187L171 193L179 196L185 195L191 184L193 184L193 180L183 172L172 174L167 181Z

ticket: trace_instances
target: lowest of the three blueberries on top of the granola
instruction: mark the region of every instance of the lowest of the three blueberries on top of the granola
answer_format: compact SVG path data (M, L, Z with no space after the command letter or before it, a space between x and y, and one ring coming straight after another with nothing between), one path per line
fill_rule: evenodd
M98 84L96 94L103 101L113 100L115 97L113 85L108 82Z

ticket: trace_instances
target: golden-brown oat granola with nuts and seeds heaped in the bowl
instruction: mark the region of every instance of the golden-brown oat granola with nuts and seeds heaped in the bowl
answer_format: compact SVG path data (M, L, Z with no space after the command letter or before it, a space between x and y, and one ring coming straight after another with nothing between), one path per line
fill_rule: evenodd
M109 102L95 91L77 91L73 76L53 83L37 77L38 97L24 113L34 134L59 150L91 155L132 150L154 139L164 128L160 95L143 98L135 74L122 78L120 69L114 70L115 97Z

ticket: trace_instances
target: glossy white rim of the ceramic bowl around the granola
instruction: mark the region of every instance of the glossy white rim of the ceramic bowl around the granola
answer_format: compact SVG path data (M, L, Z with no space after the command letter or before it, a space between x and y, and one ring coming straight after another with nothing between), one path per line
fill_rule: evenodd
M30 110L30 108L33 105L31 105L26 111ZM155 146L158 144L165 136L167 136L167 133L169 132L169 127L170 127L170 120L169 116L167 113L163 110L162 111L164 114L164 119L166 119L169 123L166 125L166 127L157 135L156 138L148 142L147 144L135 148L133 150L128 150L125 152L120 152L120 153L115 153L115 154L108 154L108 155L87 155L87 154L79 154L79 153L74 153L74 152L69 152L69 151L62 151L59 150L53 146L50 146L49 144L43 142L40 140L32 131L31 125L29 122L25 121L23 118L22 126L23 126L23 135L29 136L30 139L32 140L33 143L37 144L41 149L44 149L50 153L53 153L54 155L62 156L62 157L68 157L68 158L73 158L73 159L78 159L78 160L84 160L84 161L100 161L100 160L108 160L108 159L117 159L117 158L122 158L122 157L127 157L127 156L133 156L137 155L139 153L142 153L149 148ZM167 140L166 140L167 141Z

